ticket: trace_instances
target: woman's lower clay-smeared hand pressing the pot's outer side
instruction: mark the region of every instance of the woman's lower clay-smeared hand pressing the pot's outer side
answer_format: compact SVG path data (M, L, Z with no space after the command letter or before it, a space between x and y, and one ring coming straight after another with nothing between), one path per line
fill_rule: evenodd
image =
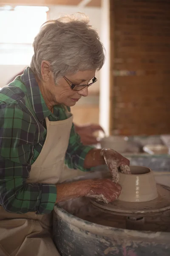
M86 196L103 201L105 204L115 201L121 194L122 187L110 179L87 180Z

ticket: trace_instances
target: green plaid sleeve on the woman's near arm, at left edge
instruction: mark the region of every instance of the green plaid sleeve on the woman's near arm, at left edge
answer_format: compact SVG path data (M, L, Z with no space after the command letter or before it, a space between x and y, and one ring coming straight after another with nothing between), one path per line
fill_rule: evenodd
M17 104L0 104L0 204L9 212L50 213L57 191L26 183L34 154L35 124Z

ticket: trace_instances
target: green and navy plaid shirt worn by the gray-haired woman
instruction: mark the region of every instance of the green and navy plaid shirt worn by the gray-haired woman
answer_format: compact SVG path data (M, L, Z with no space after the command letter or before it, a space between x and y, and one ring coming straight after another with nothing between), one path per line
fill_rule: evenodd
M62 105L49 111L29 67L0 90L0 205L8 212L45 214L54 207L55 185L26 183L45 142L47 116L50 121L67 118ZM82 145L72 125L65 163L88 171L83 164L91 148Z

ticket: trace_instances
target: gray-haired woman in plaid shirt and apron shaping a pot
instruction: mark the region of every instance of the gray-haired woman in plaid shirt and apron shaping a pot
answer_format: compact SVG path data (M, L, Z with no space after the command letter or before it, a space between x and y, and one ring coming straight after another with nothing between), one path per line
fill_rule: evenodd
M69 111L104 63L96 31L74 17L48 21L33 47L30 67L0 91L0 255L58 256L54 204L82 196L112 202L121 193L117 168L129 172L116 151L82 145ZM64 162L85 172L106 163L115 182L61 183Z

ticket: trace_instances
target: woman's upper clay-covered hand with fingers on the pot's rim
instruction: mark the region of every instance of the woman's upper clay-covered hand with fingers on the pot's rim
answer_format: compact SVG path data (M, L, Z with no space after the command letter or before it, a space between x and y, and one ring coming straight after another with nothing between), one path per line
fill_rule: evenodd
M114 182L119 182L119 168L124 173L131 173L129 167L130 161L117 151L110 148L103 148L100 154L104 157Z

